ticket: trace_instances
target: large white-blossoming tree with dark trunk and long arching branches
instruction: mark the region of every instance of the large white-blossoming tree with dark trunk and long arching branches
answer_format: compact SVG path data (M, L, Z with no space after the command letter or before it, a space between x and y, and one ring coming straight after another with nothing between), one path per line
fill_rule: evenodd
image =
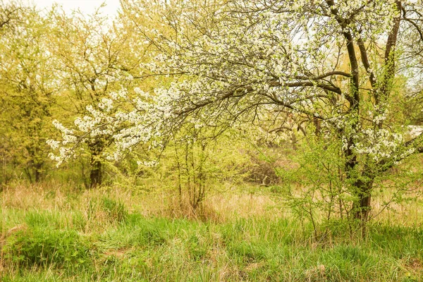
M411 138L394 111L398 97L407 99L401 89L420 81L417 75L398 87L407 78L402 70L422 54L423 7L416 1L166 3L152 8L173 33L145 30L143 40L159 55L144 66L147 75L175 80L154 93L137 89L135 99L104 99L104 111L92 111L84 127L91 137L114 134L116 157L140 143L160 145L186 121L224 129L269 113L305 118L319 128L312 134L339 144L351 210L365 222L374 179L423 152L422 137ZM132 110L111 114L122 103ZM63 138L60 160L87 134L63 128Z

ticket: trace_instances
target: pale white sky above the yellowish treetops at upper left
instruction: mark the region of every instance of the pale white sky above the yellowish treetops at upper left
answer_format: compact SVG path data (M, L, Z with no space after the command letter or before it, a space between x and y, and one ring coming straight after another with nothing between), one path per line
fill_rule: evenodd
M23 2L35 4L37 8L50 8L52 4L57 3L63 6L66 12L79 8L83 13L92 13L105 3L106 6L102 8L102 12L109 16L115 16L120 6L119 0L23 0Z

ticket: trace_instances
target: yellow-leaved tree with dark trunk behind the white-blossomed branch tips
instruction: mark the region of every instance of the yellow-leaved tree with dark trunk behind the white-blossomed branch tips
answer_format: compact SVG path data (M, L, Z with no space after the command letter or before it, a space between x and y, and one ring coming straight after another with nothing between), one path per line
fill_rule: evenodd
M61 85L60 106L67 116L85 116L104 108L99 103L109 97L110 92L128 87L133 81L130 74L137 62L132 60L128 47L128 34L122 27L108 22L101 8L92 15L74 12L66 15L60 8L49 13L53 25L49 43L49 54L56 61L54 69ZM132 61L131 61L132 60ZM63 115L65 119L66 114ZM75 121L75 130L85 130L90 118ZM63 120L62 120L63 122ZM61 124L55 125L62 128ZM104 159L102 154L110 143L109 135L97 135L85 142L89 177L87 187L102 185ZM50 145L56 143L50 142Z

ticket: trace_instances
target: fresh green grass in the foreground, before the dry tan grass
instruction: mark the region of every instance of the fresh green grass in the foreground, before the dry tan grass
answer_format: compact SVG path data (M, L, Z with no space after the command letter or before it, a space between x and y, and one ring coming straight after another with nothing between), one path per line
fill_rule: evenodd
M103 233L83 234L42 216L29 212L27 227L6 237L4 281L419 281L423 274L423 232L414 228L372 226L362 242L319 245L283 219L219 224L128 214Z

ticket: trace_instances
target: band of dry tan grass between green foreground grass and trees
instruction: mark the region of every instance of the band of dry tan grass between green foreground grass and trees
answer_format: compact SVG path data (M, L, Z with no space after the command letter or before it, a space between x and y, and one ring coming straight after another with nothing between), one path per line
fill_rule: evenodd
M256 188L259 191L260 188ZM102 226L109 219L107 214L95 206L102 197L122 202L128 212L142 216L164 216L168 218L207 219L214 222L233 221L262 217L266 219L287 218L290 212L281 205L275 195L266 188L265 192L250 192L250 190L227 190L214 192L206 197L200 212L190 209L188 200L183 198L183 204L175 192L157 190L155 192L140 192L120 188L99 188L94 190L75 190L67 185L50 183L46 185L16 184L4 189L1 193L3 209L42 210L49 212L67 212L72 221L74 211L82 211L85 218L94 226ZM417 195L416 195L417 196ZM384 208L384 202L390 199L391 193L384 191L373 200L373 214L379 214ZM91 210L90 210L91 209ZM7 214L7 213L6 213ZM90 217L91 216L91 217ZM89 219L90 217L90 219ZM423 205L418 198L405 204L392 203L389 209L384 209L376 218L385 223L396 223L401 226L422 226ZM94 226L92 226L94 228Z

